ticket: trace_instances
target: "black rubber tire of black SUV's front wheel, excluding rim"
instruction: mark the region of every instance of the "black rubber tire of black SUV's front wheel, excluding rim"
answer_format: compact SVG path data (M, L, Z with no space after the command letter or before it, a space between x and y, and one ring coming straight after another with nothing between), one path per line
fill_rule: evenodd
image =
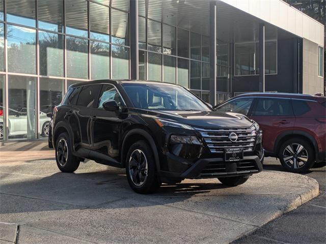
M146 160L147 160L147 178L145 182L141 186L135 185L130 177L129 174L129 158L132 154L132 152L136 149L140 149L143 151L145 154ZM129 185L131 189L137 193L141 194L147 194L147 193L152 193L155 191L159 185L159 179L157 177L157 170L156 170L156 164L155 164L155 158L152 152L152 149L143 140L137 141L134 144L131 145L131 147L128 150L127 157L126 157L126 175L127 175L127 180L129 182Z

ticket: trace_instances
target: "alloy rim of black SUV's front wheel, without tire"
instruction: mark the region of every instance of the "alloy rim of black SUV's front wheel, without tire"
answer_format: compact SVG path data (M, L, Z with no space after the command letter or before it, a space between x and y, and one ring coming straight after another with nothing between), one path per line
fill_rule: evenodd
M134 185L142 186L147 179L148 164L142 150L136 149L129 158L129 175Z

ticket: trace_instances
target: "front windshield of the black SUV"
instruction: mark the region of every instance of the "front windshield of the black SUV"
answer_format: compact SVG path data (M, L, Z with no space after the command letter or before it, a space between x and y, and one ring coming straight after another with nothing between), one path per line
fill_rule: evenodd
M185 88L165 84L123 84L134 107L151 110L210 111L211 109Z

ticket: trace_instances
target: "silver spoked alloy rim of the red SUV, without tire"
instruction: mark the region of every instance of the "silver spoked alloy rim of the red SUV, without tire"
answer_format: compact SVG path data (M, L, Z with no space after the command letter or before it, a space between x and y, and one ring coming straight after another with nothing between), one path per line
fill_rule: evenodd
M308 162L308 151L301 144L289 144L283 151L283 160L284 163L290 168L302 168Z

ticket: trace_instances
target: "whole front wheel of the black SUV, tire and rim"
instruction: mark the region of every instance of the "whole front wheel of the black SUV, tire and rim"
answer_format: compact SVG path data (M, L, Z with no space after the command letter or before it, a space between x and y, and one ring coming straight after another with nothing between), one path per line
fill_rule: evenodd
M127 179L133 191L148 194L160 187L154 155L145 141L137 141L131 145L125 165Z

